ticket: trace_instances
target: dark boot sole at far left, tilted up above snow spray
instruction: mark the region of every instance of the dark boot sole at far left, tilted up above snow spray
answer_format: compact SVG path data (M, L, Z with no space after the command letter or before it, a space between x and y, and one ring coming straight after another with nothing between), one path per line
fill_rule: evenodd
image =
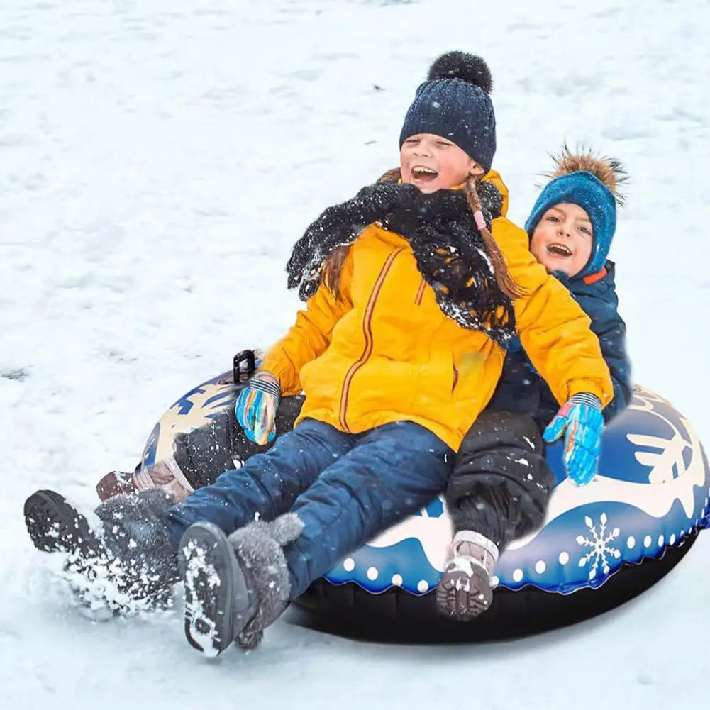
M42 552L98 552L100 543L89 525L64 496L37 491L26 501L25 525L33 545Z

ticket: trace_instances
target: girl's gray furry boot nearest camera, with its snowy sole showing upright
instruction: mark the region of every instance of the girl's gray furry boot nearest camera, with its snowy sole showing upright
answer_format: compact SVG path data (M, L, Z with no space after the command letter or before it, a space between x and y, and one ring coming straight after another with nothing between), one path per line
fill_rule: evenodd
M195 523L180 540L185 581L185 636L216 656L236 641L256 648L263 630L285 610L290 578L283 546L302 523L286 513L271 523L250 523L227 537L217 525Z

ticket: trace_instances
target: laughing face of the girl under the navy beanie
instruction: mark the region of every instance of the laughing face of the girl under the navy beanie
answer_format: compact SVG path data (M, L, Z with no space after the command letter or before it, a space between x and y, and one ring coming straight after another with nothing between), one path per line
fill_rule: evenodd
M480 177L484 169L455 143L433 133L417 133L400 150L402 182L416 185L422 192L450 190L469 178Z

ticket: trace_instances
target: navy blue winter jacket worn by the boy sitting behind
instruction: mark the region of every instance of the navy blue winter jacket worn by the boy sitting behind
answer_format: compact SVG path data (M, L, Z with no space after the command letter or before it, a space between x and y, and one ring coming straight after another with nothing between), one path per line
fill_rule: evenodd
M606 273L605 273L606 271ZM618 298L614 287L614 264L591 277L567 279L555 276L569 288L581 309L591 318L591 329L599 338L601 354L611 371L614 397L603 410L608 421L620 413L631 398L631 366L626 356L626 324L616 310ZM505 409L530 415L540 428L547 426L559 409L547 383L537 374L528 356L516 340L508 349L503 373L489 408Z

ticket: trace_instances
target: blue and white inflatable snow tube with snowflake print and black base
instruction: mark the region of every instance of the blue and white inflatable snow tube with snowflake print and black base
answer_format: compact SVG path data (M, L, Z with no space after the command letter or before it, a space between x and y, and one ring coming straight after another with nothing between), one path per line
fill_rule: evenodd
M233 383L226 373L180 398L155 425L141 465L169 456L178 432L233 403ZM557 485L545 524L498 559L493 605L476 620L450 621L435 609L431 592L451 539L439 498L344 557L291 606L291 618L359 638L487 640L564 626L633 598L709 526L710 469L690 422L639 386L602 447L588 486L564 475L560 442L547 448Z

